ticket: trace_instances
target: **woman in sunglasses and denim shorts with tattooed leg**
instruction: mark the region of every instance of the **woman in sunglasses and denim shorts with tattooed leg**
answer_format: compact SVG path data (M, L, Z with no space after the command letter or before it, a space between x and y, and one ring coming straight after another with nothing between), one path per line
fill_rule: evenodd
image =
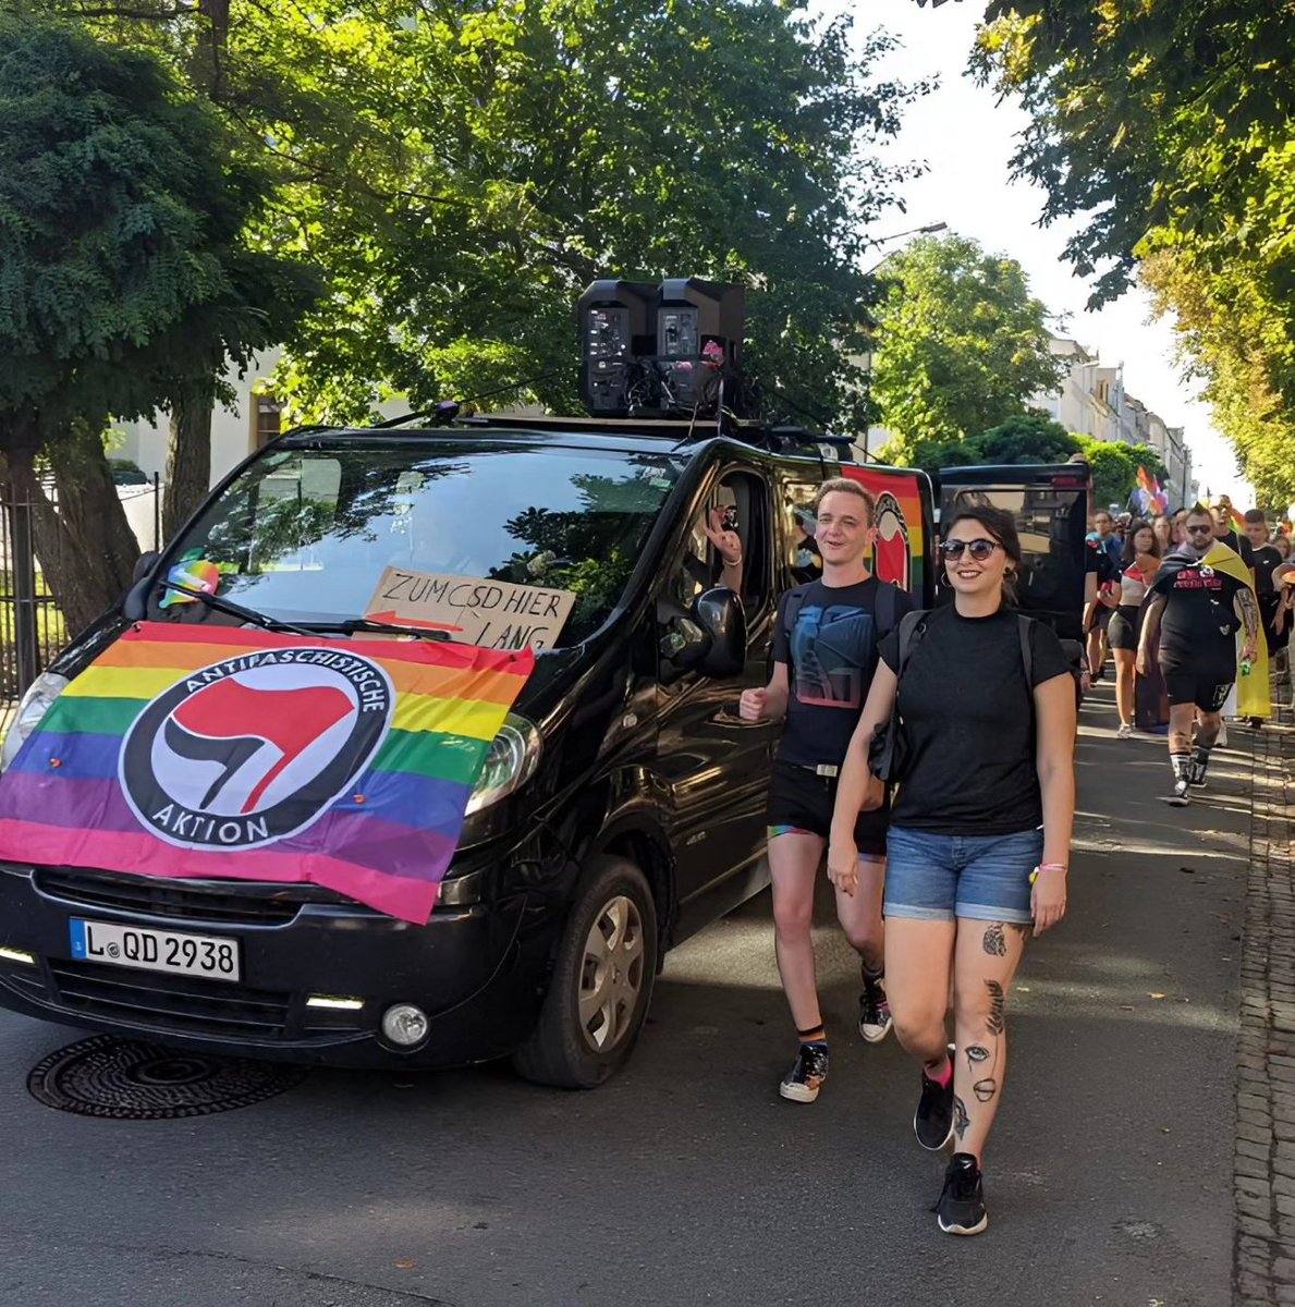
M954 1142L940 1229L970 1235L988 1225L981 1166L1008 1067L1011 979L1031 925L1039 935L1066 908L1075 697L1057 637L1008 606L1022 566L1011 515L958 508L940 548L954 603L882 640L842 770L828 876L847 894L859 885L855 821L882 799L869 748L898 706L907 757L891 809L887 993L899 1042L921 1064L917 1141L932 1151Z

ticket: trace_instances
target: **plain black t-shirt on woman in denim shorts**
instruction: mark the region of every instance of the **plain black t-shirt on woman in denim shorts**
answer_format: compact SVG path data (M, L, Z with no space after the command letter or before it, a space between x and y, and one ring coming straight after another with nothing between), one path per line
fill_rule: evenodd
M881 642L895 670L899 634ZM1056 634L1030 623L1034 685L1070 673ZM950 604L925 627L899 681L910 765L891 822L937 835L1010 835L1043 822L1032 686L1013 609L962 617Z

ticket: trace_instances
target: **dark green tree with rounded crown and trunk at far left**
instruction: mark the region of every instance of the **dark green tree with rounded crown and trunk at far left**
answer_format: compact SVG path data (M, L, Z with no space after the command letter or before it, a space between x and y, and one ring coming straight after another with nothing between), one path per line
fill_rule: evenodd
M72 630L120 596L137 554L108 417L166 403L225 331L233 278L257 268L240 247L255 178L221 165L223 141L157 59L0 13L0 454L37 505Z

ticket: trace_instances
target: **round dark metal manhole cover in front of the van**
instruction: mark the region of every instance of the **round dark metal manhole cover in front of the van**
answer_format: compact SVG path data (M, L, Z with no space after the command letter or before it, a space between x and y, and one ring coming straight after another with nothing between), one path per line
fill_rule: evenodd
M153 1121L248 1107L304 1077L303 1067L206 1057L142 1039L94 1035L50 1053L31 1070L27 1089L60 1112Z

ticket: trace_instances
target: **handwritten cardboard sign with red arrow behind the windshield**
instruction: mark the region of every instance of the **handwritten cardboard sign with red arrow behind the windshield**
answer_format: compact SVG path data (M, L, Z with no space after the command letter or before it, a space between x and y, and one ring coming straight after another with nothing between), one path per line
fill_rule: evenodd
M568 589L388 567L365 617L448 631L487 650L545 650L562 634L575 600Z

